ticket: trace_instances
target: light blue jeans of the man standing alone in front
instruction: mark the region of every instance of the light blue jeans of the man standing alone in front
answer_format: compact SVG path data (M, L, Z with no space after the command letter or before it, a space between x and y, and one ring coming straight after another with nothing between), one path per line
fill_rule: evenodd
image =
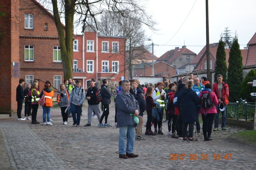
M118 144L118 152L119 154L128 154L133 153L134 139L135 139L135 126L134 125L126 125L120 126L119 128L119 144ZM126 135L128 135L127 143L125 147Z

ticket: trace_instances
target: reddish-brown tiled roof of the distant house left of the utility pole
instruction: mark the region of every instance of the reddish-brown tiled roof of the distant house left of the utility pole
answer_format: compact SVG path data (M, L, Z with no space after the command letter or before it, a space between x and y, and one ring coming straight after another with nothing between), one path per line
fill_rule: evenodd
M168 56L168 54L169 54L169 56ZM181 54L196 54L196 53L194 53L193 51L190 51L186 47L177 48L177 49L173 49L173 50L165 52L162 56L160 56L158 58L158 60L168 61L168 59L169 59L169 61L167 63L172 63L174 61L174 54L175 54L175 58L177 58Z

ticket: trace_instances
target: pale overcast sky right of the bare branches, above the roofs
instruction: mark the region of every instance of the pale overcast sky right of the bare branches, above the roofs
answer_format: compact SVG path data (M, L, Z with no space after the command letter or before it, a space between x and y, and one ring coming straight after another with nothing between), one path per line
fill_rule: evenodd
M246 47L256 32L255 7L255 0L209 0L210 44L217 43L225 27L229 27L232 36L237 31L240 48ZM181 48L184 41L197 54L206 45L205 0L149 0L148 10L159 23L157 34L147 30L157 57L175 47ZM145 45L151 43L145 41Z

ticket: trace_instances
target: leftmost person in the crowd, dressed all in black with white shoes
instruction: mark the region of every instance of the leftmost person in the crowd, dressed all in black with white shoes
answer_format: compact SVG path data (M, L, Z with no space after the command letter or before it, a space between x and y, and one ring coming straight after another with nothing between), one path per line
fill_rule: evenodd
M24 85L24 80L20 79L19 80L19 85L16 88L16 101L18 102L18 104L17 104L18 120L25 120L21 117L22 104L23 104L23 100L25 100L24 91L23 91L23 87L22 87L23 85Z

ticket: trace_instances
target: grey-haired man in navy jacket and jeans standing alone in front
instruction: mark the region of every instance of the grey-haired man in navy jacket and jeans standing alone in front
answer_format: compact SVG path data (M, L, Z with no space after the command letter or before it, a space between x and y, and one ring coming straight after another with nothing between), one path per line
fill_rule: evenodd
M122 90L116 96L117 125L120 127L118 152L119 158L127 159L138 157L138 155L133 154L135 138L133 116L139 116L140 110L138 102L129 92L130 82L128 80L123 80L121 86ZM126 139L127 145L125 145Z

